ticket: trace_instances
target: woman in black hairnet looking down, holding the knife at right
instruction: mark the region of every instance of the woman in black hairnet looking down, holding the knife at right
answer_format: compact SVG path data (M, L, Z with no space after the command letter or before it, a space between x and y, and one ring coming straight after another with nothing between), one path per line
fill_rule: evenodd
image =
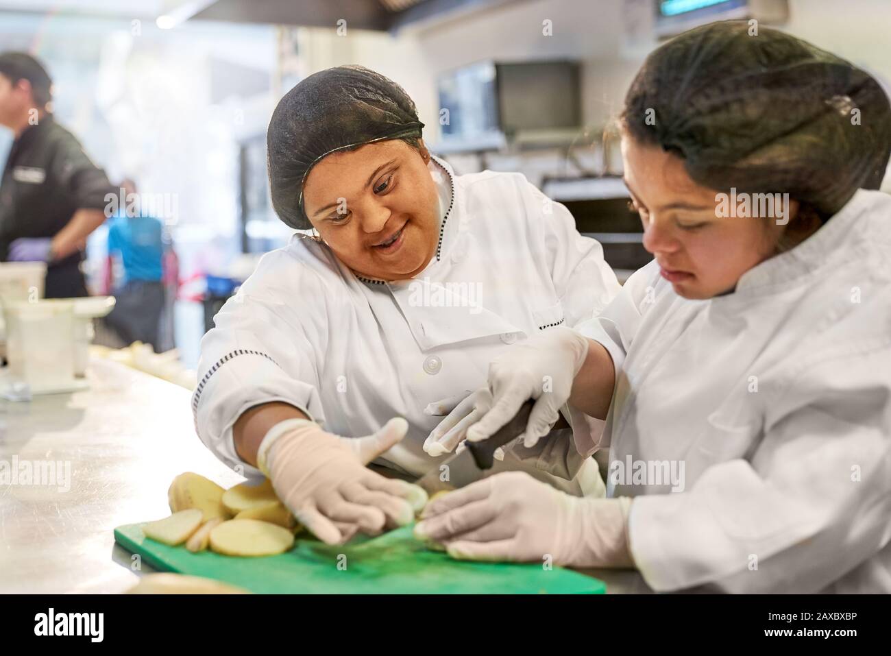
M886 94L797 38L715 23L650 54L621 122L654 261L579 333L496 360L467 433L528 397L609 399L609 498L499 474L417 534L459 558L634 566L658 591L891 592ZM571 394L542 394L543 371Z

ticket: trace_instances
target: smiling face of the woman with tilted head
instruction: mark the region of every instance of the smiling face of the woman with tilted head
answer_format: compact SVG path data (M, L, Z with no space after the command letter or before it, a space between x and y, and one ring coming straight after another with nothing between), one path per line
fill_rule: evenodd
M313 167L304 210L339 260L360 275L402 280L420 273L439 241L430 156L401 140L335 152Z

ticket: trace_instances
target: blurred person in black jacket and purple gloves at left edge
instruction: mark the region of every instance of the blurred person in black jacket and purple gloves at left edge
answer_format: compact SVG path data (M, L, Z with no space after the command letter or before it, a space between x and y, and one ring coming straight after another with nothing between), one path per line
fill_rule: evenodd
M52 84L29 54L0 54L0 124L14 138L0 180L0 261L45 262L46 298L87 296L80 263L112 187L53 119Z

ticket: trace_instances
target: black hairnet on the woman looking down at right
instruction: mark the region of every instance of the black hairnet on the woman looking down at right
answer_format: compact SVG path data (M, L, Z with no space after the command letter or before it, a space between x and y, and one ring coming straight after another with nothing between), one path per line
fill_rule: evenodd
M650 53L623 123L680 154L699 184L789 193L823 218L858 188L877 189L891 152L891 108L874 78L783 32L749 36L745 21L691 29Z

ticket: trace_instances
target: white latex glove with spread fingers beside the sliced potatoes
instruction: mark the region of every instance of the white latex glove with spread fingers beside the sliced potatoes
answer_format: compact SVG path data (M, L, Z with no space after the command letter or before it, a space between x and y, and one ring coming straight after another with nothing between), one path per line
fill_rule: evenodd
M391 419L365 438L340 438L315 422L291 419L266 434L257 463L294 517L323 542L346 542L405 526L427 503L423 489L367 469L405 437L408 422ZM266 440L273 439L269 444Z

